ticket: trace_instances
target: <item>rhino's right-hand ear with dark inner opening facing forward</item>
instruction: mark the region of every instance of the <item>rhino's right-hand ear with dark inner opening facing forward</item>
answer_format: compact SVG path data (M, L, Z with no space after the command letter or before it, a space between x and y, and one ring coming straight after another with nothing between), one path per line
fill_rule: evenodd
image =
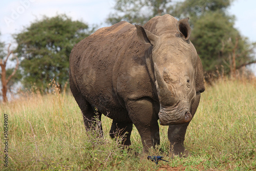
M181 37L183 37L185 40L188 40L191 35L191 29L188 23L188 19L189 18L180 19L176 25Z

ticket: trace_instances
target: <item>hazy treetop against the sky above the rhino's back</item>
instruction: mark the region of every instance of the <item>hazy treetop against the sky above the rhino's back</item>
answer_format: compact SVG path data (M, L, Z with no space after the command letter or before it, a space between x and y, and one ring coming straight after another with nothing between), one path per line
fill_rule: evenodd
M154 16L170 13L173 10L172 4L171 0L117 0L115 13L109 15L106 23L114 25L125 20L143 25Z

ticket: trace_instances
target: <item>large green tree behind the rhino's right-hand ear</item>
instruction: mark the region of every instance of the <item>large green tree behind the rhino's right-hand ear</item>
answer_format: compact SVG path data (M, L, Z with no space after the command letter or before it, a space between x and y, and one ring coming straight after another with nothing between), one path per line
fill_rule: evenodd
M234 28L234 16L226 13L231 0L186 0L177 4L174 14L190 17L193 42L202 59L204 70L216 71L220 66L234 75L242 66L256 62L255 44Z

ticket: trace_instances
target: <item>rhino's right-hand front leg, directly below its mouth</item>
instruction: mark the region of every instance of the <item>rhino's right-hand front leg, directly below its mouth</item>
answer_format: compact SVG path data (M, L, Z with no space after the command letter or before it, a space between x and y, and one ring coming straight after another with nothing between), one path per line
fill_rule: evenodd
M191 105L190 113L194 117L199 105L201 94L197 93L194 103ZM189 122L177 125L169 125L168 139L170 141L170 151L173 155L187 157L188 152L185 151L184 140Z

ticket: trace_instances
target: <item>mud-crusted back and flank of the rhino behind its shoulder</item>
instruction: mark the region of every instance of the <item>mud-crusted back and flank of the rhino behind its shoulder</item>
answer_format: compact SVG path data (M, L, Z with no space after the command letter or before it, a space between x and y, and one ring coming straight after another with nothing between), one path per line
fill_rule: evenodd
M135 27L127 22L101 28L75 45L70 54L70 75L76 89L103 114L124 108L113 82L135 33Z

